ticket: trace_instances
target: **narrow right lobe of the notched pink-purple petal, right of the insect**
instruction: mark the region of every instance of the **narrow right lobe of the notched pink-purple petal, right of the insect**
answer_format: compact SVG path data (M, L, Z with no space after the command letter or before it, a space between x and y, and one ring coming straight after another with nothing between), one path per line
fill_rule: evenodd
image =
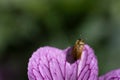
M94 51L84 46L81 61L78 63L78 80L98 80L98 63Z

